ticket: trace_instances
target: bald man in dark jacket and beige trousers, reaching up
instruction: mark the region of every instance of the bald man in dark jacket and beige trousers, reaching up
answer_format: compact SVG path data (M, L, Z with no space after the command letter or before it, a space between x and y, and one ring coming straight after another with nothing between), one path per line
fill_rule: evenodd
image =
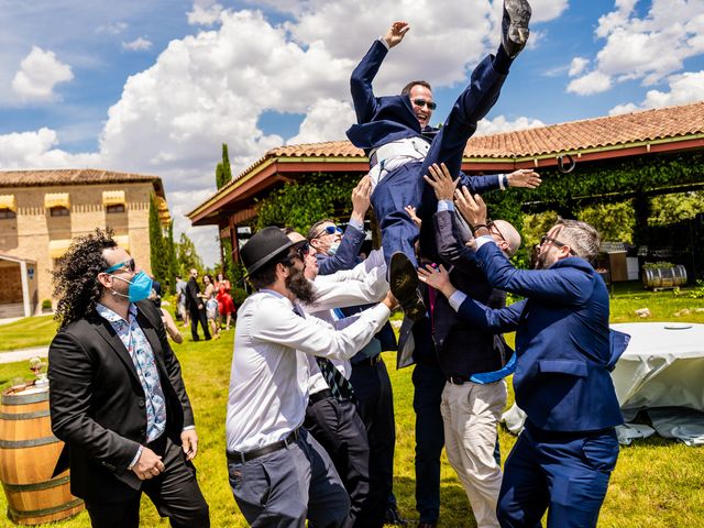
M492 288L474 253L464 245L471 233L454 212L452 196L457 180L444 165L433 165L429 173L426 182L438 198L433 217L437 251L451 270L452 284L487 306L504 307L506 294ZM507 256L513 256L520 246L520 234L507 221L492 222L490 232ZM502 472L494 452L498 419L506 405L503 377L512 372L506 364L513 351L503 337L468 324L442 294L433 295L435 290L429 289L432 339L446 382L438 385L440 394L436 395L436 402L442 415L448 460L464 487L477 526L498 527L496 502Z

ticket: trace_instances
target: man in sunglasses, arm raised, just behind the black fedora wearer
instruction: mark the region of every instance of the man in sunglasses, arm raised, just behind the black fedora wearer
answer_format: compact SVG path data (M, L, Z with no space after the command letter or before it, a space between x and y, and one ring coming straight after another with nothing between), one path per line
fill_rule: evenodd
M360 250L366 237L364 216L370 208L371 195L371 180L369 176L364 176L352 190L352 215L344 233L330 218L317 221L308 230L308 240L316 250L320 275L351 270L359 263Z

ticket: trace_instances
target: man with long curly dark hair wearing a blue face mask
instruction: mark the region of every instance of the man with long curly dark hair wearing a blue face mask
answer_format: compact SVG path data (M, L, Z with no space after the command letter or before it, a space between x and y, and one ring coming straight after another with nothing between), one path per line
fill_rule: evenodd
M77 239L54 272L59 330L48 351L52 430L92 526L140 524L142 492L175 528L209 527L191 460L194 414L152 279L110 231Z

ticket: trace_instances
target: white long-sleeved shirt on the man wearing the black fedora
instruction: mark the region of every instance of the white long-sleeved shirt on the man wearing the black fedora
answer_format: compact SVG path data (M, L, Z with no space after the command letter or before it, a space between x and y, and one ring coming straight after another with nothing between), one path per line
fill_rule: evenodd
M290 300L275 292L248 297L238 310L227 449L250 451L286 438L302 424L308 405L306 354L350 359L388 316L380 304L337 331L320 319L297 316Z

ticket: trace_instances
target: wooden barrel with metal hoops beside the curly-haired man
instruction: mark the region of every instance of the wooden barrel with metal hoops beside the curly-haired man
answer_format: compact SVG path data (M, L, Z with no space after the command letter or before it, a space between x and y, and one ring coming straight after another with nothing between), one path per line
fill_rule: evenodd
M82 501L70 494L68 471L52 479L63 447L52 435L46 388L29 386L2 393L0 481L10 520L38 525L84 509Z

